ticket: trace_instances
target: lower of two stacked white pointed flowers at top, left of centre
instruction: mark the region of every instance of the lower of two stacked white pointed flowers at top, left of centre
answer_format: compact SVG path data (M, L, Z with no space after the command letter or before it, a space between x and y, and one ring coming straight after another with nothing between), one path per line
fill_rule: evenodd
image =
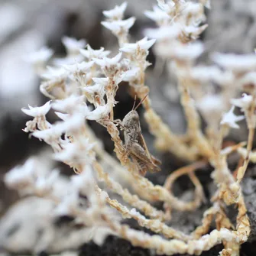
M101 24L112 31L113 34L127 33L134 24L135 18L131 17L122 21L102 21Z

